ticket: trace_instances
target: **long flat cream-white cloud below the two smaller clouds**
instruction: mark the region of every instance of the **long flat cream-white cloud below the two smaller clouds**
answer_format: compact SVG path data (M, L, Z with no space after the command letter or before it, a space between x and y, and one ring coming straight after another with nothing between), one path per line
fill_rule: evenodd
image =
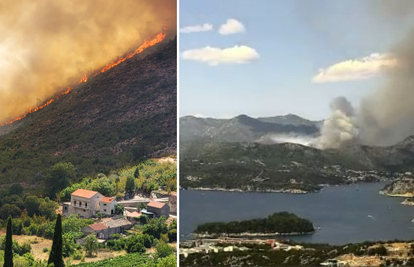
M255 49L244 45L225 49L206 46L199 49L187 50L182 53L183 59L206 63L210 66L249 63L259 57Z

